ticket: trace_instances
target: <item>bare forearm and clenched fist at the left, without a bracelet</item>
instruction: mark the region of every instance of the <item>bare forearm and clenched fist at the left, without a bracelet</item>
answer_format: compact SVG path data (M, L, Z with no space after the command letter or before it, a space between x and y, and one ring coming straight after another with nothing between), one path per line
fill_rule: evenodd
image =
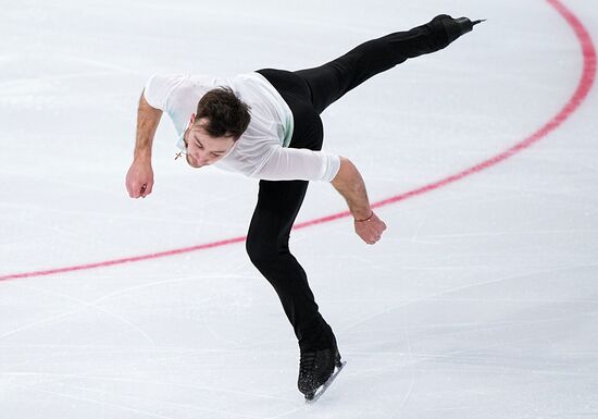
M133 163L126 175L126 188L132 198L145 198L153 188L151 147L162 111L152 108L141 94L137 110L137 135Z

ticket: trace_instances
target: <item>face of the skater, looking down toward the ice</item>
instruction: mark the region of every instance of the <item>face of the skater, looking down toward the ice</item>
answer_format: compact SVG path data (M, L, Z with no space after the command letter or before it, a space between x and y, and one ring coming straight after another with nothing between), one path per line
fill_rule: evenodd
M192 168L202 168L213 164L226 156L235 145L233 137L212 137L203 128L204 119L195 119L191 115L189 125L183 135L187 163Z

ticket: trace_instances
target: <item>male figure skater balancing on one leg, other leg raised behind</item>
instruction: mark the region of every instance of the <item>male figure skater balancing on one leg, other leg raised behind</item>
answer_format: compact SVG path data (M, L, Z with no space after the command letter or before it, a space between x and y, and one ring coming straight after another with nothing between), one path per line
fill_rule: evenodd
M308 399L335 366L341 366L335 335L288 247L309 181L329 182L345 197L356 233L366 244L378 242L386 230L370 207L356 165L321 151L320 114L367 78L447 47L478 22L438 15L314 69L264 69L233 78L153 75L145 86L134 161L126 175L129 196L145 198L152 192L151 147L163 111L178 132L178 156L184 153L191 167L213 164L260 180L247 252L278 294L295 330L300 349L298 387Z

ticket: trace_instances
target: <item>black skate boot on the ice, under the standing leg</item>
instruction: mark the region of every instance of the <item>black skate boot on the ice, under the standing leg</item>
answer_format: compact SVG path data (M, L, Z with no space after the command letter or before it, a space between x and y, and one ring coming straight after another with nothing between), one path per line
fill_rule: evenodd
M342 367L336 345L333 348L316 352L301 350L297 386L306 395L306 399L313 399L315 392L331 378L335 367Z

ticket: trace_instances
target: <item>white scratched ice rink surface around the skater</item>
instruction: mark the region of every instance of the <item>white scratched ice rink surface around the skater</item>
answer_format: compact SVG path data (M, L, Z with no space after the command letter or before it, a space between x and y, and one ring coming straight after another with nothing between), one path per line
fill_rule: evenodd
M155 72L314 66L439 13L488 22L323 114L372 202L402 199L375 246L348 218L291 236L348 361L306 405L275 293L240 241L210 247L257 181L174 161L164 118L128 198L137 100ZM598 418L593 1L3 0L0 38L2 419ZM298 222L345 210L312 184Z

